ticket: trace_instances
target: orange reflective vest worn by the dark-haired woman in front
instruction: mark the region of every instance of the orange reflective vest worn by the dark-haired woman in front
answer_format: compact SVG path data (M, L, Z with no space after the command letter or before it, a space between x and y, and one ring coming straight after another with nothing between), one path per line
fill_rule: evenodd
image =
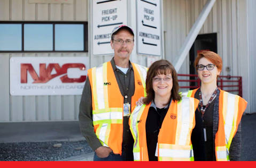
M194 161L191 133L198 103L199 100L188 97L172 101L158 135L158 161ZM149 161L145 127L150 104L136 106L130 116L134 161Z

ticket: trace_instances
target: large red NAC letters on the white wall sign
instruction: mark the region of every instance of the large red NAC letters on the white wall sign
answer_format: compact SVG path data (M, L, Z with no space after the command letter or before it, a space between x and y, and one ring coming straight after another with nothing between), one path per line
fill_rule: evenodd
M50 63L47 67L45 63L39 64L39 75L36 73L34 67L30 63L21 63L20 64L20 82L27 83L28 73L34 80L33 83L46 83L53 78L60 77L61 82L63 83L82 83L86 81L86 75L81 75L80 78L68 78L67 70L69 68L79 68L80 70L86 70L86 65L81 63L66 63L60 66L58 63ZM53 69L57 73L51 74Z

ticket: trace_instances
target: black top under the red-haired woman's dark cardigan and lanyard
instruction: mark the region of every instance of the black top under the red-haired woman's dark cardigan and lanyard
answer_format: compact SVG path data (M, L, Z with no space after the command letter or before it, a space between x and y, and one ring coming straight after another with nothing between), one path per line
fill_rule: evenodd
M199 99L199 90L196 91L195 98ZM204 129L206 129L206 158L207 161L215 161L216 158L214 156L214 145L213 145L213 108L214 108L215 99L213 99L212 103L206 108L204 117L203 117L203 125ZM200 105L198 105L200 108ZM197 108L197 113L200 113ZM205 108L205 106L204 106Z

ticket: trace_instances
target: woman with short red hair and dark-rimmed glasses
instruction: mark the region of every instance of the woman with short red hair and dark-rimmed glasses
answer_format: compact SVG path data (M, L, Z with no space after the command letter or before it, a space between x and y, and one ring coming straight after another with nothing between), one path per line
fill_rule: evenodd
M182 95L199 100L197 111L203 120L207 161L239 161L241 118L247 102L217 87L222 70L222 59L218 54L199 53L194 65L201 87Z

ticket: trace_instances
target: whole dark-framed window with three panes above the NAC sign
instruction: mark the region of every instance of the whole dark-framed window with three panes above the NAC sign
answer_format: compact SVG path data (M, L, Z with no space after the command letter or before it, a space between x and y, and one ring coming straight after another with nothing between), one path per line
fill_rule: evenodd
M0 52L88 52L87 22L0 22Z

